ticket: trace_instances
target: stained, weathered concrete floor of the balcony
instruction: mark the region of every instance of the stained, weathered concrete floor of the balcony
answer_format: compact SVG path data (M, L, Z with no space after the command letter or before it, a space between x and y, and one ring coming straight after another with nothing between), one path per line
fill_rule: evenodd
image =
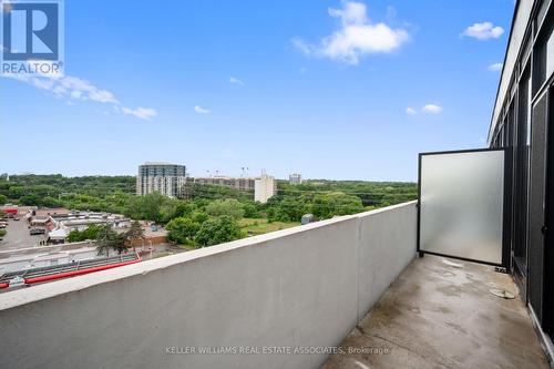
M388 352L334 355L324 368L548 368L510 275L417 258L342 341ZM516 295L490 294L495 286Z

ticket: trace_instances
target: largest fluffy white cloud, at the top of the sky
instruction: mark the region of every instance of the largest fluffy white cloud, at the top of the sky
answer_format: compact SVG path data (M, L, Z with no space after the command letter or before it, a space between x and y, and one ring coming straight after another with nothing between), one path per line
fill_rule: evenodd
M362 55L392 52L410 39L404 29L393 29L382 22L371 23L362 2L343 1L342 9L329 8L328 11L330 17L340 18L339 30L325 37L319 44L295 38L291 40L293 45L307 55L356 65Z

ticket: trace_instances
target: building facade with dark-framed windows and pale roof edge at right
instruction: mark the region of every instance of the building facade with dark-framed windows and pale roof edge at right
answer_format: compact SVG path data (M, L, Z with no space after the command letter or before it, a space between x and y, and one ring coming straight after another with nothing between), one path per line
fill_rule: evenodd
M550 233L554 176L554 7L519 0L489 130L491 147L506 150L504 239L510 266L532 317L554 334L554 246ZM548 216L550 214L550 216ZM547 337L542 336L542 337ZM545 346L552 347L548 338Z

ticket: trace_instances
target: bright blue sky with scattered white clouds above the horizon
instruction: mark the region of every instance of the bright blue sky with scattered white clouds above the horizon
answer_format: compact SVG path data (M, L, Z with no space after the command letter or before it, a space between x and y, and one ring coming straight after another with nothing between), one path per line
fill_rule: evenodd
M65 0L65 78L0 79L0 173L416 181L485 145L513 9Z

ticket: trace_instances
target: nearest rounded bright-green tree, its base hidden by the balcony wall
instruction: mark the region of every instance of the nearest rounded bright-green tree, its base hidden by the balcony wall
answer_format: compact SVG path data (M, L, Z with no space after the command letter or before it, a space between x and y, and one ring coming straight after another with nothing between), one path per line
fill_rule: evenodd
M204 222L196 233L195 240L201 246L212 246L244 236L238 224L228 215L222 215Z

